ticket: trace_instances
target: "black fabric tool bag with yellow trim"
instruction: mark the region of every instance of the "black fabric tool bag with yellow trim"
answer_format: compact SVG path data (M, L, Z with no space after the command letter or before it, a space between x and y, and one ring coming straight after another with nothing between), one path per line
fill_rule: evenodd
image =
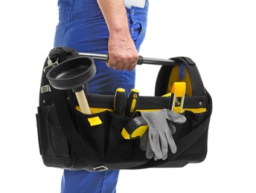
M113 111L115 96L89 94L85 88L92 114L82 114L71 90L51 87L46 78L48 70L76 57L80 57L76 50L54 48L43 67L36 120L39 150L45 166L103 171L183 167L205 160L212 102L191 59L177 57L172 59L172 65L163 65L156 80L156 96L139 98L135 117L140 117L140 111L170 109L173 95L164 95L171 93L174 82L187 85L182 107L187 120L183 124L174 123L176 154L168 151L166 160L153 160L141 151L139 138L127 140L121 135L135 117Z

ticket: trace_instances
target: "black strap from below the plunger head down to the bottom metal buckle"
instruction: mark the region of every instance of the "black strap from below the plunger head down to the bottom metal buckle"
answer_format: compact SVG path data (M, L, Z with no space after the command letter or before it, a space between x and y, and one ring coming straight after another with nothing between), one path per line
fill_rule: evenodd
M70 143L71 147L74 149L74 152L76 152L82 160L86 160L86 163L89 166L92 166L92 171L106 170L106 166L103 166L103 164L95 158L89 148L86 147L86 144L83 143L80 135L77 133L74 123L71 120L63 91L51 88L51 95L54 100L54 105L61 128L63 128L68 143Z

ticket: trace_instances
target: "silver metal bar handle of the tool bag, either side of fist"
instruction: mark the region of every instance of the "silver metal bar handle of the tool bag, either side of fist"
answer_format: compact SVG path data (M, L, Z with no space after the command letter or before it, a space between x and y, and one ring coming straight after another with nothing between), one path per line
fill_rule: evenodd
M89 56L96 60L108 61L109 55L103 53L79 53L81 56ZM176 64L172 59L155 59L155 58L144 58L143 56L138 56L138 65L148 64L148 65L173 65Z

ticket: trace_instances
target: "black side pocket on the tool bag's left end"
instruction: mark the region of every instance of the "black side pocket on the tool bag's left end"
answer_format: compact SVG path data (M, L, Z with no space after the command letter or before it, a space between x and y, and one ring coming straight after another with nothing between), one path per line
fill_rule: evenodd
M39 151L45 165L70 168L73 151L60 126L54 104L38 107L36 122Z

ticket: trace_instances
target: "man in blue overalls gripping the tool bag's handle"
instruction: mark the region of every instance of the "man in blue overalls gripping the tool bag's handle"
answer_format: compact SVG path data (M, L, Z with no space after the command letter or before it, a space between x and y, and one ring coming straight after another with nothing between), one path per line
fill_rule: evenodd
M109 61L95 61L97 72L89 92L129 93L135 86L138 50L147 28L148 0L58 0L59 24L54 47L78 52L109 53ZM119 171L64 170L64 192L115 192Z

